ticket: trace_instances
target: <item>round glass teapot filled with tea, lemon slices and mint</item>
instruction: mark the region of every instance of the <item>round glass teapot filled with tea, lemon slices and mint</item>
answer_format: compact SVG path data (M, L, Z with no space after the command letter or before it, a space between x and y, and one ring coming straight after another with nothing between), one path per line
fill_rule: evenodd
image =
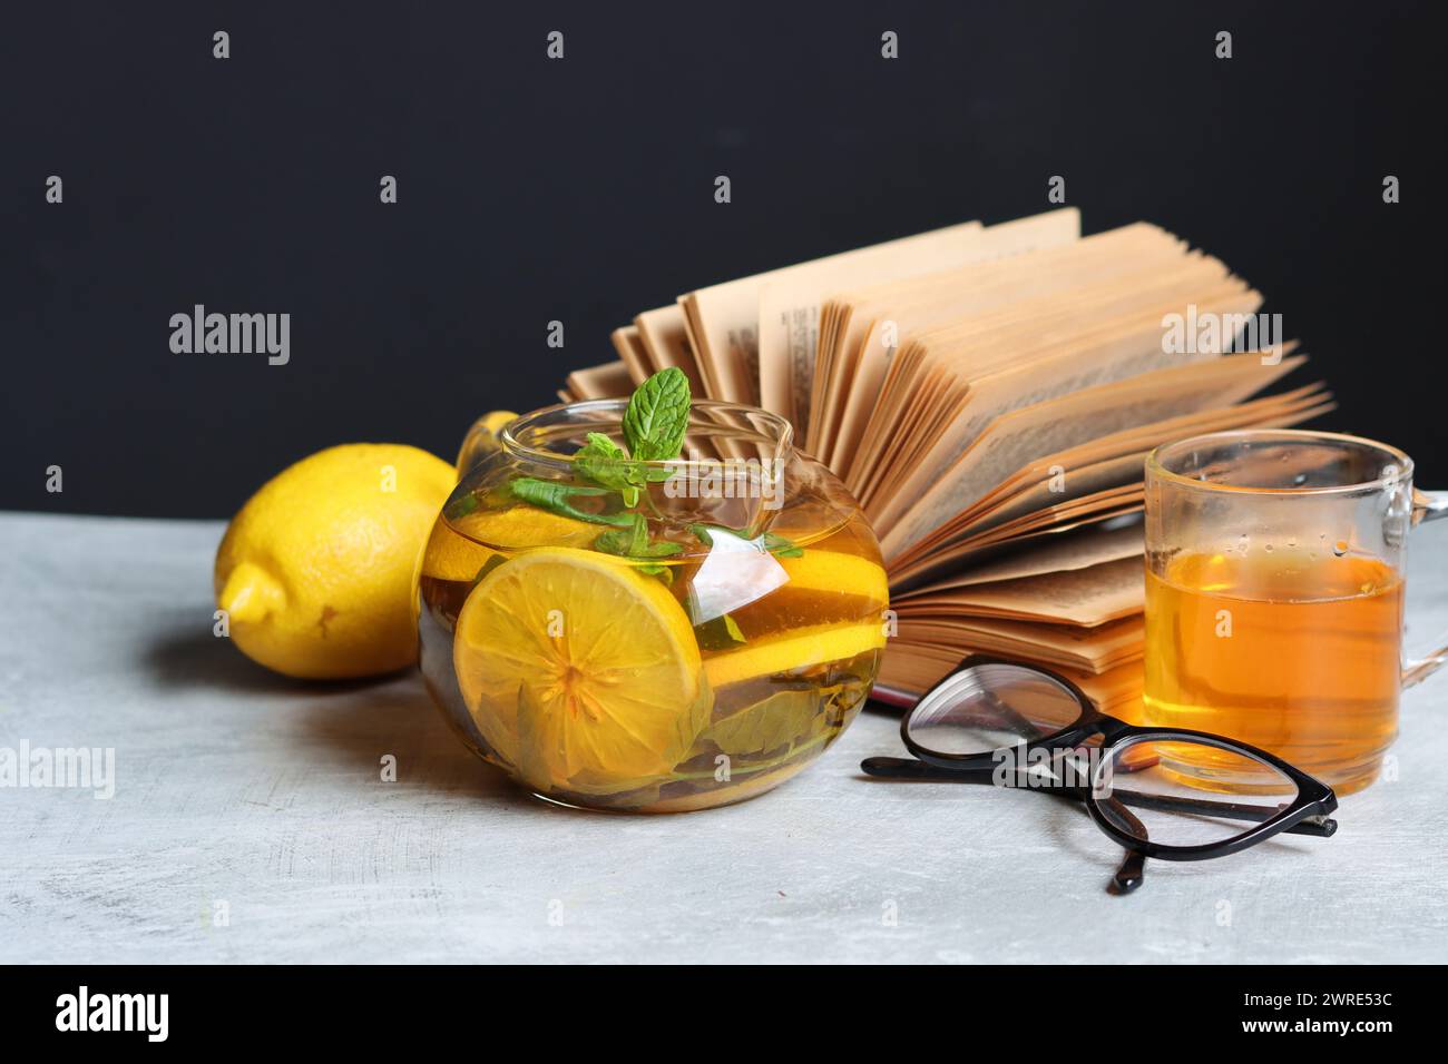
M880 550L763 410L696 401L679 459L631 462L621 489L581 475L579 450L620 442L626 407L473 426L418 565L423 676L463 743L540 798L636 812L752 798L867 698Z

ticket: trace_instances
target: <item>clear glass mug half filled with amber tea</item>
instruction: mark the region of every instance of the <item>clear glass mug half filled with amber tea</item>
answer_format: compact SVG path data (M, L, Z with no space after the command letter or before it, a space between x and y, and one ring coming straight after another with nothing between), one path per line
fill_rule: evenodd
M1338 433L1212 433L1145 473L1144 724L1270 750L1360 790L1397 735L1399 692L1448 659L1403 659L1405 547L1448 512L1403 452ZM1239 764L1166 766L1208 790L1267 792Z

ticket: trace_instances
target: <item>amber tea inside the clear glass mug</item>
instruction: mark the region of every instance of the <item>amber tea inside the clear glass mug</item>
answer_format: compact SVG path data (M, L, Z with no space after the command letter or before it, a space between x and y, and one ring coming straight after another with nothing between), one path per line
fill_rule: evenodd
M1145 724L1228 735L1358 790L1397 731L1402 625L1403 580L1373 557L1177 554L1147 572ZM1203 760L1171 767L1242 789Z

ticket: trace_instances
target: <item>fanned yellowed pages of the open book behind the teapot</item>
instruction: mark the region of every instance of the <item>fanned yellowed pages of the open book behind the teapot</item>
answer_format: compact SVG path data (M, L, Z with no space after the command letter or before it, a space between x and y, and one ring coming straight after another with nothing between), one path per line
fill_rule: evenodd
M698 288L614 330L565 400L666 366L788 418L869 515L908 704L972 651L1141 695L1142 468L1160 443L1332 408L1279 387L1305 356L1211 255L1076 210L977 221Z

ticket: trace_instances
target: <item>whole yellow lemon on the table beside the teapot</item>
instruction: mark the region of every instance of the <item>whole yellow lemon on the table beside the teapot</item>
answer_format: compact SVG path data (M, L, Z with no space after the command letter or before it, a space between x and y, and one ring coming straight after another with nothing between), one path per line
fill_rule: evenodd
M450 465L398 443L327 447L279 472L216 552L232 640L304 679L414 663L413 567L455 484Z

